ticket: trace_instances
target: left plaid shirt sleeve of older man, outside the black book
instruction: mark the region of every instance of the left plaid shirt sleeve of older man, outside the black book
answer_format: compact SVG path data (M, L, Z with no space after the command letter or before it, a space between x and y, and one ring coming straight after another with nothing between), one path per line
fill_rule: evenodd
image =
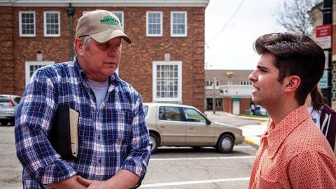
M40 184L62 181L76 174L68 162L59 158L48 139L57 108L54 97L57 82L57 74L49 69L36 71L15 115L18 160L31 179Z

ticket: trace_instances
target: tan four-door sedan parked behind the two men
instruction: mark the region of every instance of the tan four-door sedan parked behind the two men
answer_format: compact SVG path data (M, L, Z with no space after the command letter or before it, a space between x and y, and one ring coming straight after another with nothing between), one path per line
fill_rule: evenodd
M213 146L220 153L230 153L234 144L244 141L242 130L213 123L193 106L144 103L144 111L152 154L159 146Z

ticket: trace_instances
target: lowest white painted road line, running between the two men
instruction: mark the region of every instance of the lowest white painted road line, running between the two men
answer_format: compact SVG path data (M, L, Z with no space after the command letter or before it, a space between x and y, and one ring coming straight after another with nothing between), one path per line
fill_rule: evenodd
M142 184L140 188L152 188L160 186L181 186L181 185L190 185L190 184L202 184L202 183L222 183L229 181L248 181L250 177L243 178L232 178L232 179L213 179L213 180L203 180L203 181L182 181L182 182L169 182L169 183L151 183L151 184Z

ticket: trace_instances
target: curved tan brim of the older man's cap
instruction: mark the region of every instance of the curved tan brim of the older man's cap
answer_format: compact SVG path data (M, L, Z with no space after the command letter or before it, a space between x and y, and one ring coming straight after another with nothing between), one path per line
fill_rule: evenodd
M104 43L106 41L109 41L111 38L116 38L116 37L123 37L123 39L127 43L132 43L131 38L119 29L114 30L114 31L107 29L105 31L98 32L96 34L90 34L90 36L94 39L94 41L97 41L99 43Z

